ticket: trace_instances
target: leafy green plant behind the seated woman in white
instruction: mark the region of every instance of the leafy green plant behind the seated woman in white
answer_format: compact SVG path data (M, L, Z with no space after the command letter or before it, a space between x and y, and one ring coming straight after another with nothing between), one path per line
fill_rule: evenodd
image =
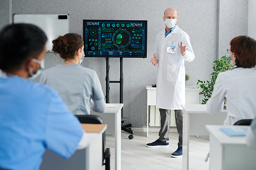
M211 97L211 93L214 90L214 84L219 72L223 72L233 68L233 65L231 64L230 60L226 56L223 56L219 60L214 61L212 65L214 65L212 67L214 71L212 71L212 73L210 74L211 81L198 80L197 82L197 85L200 84L199 86L200 86L200 89L202 90L200 91L199 94L200 95L202 94L204 96L204 99L202 100L201 104L206 104L208 99Z

